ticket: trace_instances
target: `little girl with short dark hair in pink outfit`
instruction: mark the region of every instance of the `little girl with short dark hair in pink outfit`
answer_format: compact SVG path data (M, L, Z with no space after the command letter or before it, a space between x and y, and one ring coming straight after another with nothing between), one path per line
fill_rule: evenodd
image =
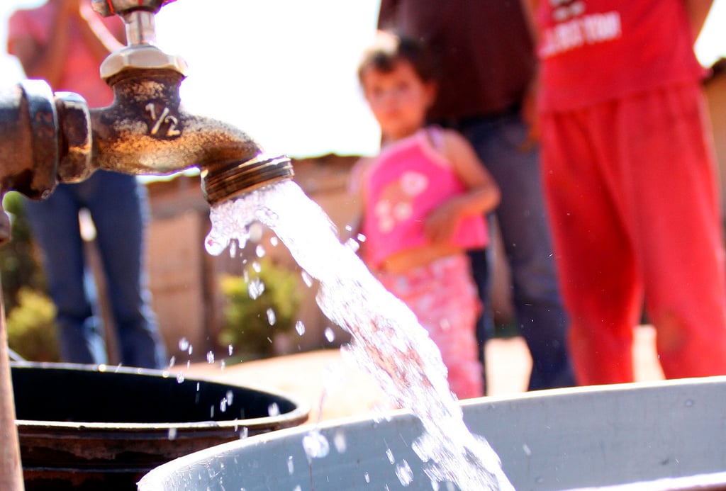
M382 133L378 157L353 172L362 257L439 346L454 394L478 397L481 305L465 250L486 244L484 214L499 203L499 189L463 136L425 125L436 84L420 46L380 33L358 74Z

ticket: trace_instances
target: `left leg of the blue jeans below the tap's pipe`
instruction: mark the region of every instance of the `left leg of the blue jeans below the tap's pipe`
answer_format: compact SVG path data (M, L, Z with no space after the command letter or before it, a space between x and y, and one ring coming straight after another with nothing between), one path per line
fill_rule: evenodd
M72 185L57 186L42 202L25 200L33 238L41 249L48 293L57 310L60 357L105 363L105 342L85 289L79 205Z

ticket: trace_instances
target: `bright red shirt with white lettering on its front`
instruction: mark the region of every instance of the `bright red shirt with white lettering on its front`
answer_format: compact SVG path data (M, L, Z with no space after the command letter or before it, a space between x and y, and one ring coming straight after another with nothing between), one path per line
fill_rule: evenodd
M703 76L682 0L542 1L537 23L544 111Z

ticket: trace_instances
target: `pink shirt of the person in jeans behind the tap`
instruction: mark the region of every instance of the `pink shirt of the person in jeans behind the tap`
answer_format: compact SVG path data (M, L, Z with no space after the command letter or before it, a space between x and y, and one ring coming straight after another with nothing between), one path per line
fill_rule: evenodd
M48 43L57 4L47 2L37 9L18 10L9 19L8 42L13 38L30 36L39 45ZM71 91L81 94L90 107L104 107L113 102L113 92L99 75L99 63L86 47L80 30L72 21L69 29L70 47L66 57L62 80L54 91ZM106 28L118 27L120 20L114 17L96 17L91 22L102 22Z

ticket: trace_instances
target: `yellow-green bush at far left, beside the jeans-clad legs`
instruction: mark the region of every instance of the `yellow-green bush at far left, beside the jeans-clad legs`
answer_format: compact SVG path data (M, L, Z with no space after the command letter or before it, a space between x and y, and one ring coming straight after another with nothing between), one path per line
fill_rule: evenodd
M17 306L7 315L7 344L25 360L59 361L52 300L33 289L17 292Z

